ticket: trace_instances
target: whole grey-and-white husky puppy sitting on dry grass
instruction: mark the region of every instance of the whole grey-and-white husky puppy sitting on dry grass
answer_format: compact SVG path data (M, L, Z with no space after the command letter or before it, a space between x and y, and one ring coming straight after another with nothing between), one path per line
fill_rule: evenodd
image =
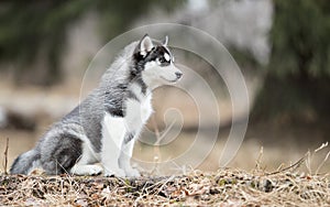
M173 63L167 40L161 43L146 34L128 45L99 86L53 124L33 150L16 157L11 174L42 168L51 175L140 176L130 159L153 112L152 90L183 75Z

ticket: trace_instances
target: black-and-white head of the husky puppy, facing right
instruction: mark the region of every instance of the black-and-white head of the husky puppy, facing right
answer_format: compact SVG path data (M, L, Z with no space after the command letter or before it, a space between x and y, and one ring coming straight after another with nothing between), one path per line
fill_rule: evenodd
M142 80L151 88L173 84L180 79L183 73L174 65L174 57L164 42L152 41L145 34L139 42L134 59L141 70Z

